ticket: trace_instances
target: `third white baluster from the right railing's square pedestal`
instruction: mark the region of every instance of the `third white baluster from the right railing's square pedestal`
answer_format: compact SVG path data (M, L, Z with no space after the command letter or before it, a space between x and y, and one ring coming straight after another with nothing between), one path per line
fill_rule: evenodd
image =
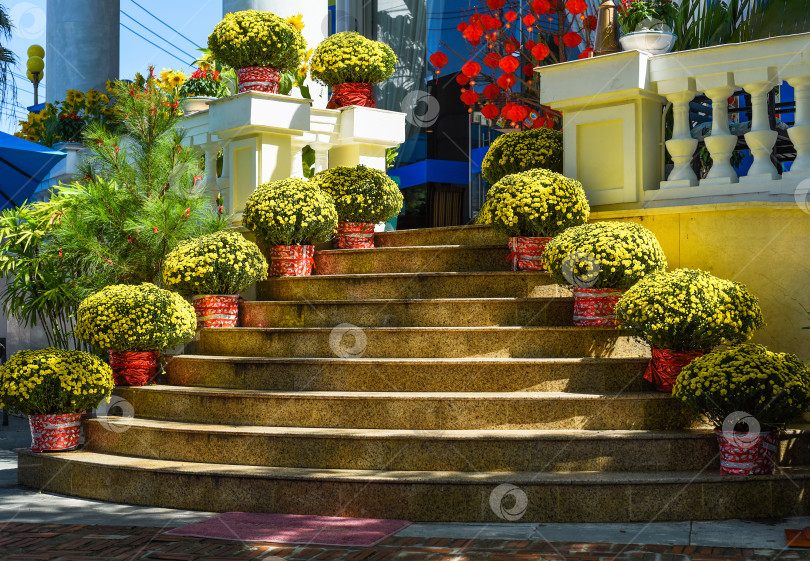
M758 68L736 72L737 83L751 94L751 130L745 134L745 142L754 156L748 175L740 181L779 179L779 172L771 162L771 152L776 144L777 133L771 130L768 120L768 92L779 82L774 68Z

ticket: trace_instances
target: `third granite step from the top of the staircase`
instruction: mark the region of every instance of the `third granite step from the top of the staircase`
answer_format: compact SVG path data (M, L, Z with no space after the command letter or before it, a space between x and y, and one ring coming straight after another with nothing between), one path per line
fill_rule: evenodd
M256 284L257 300L383 298L548 298L571 296L548 273L440 272L274 277Z

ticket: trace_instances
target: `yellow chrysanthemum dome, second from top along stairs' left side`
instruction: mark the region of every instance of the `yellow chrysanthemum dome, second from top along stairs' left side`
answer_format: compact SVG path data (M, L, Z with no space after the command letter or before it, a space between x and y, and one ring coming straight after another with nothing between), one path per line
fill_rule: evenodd
M242 214L242 224L269 245L329 241L337 220L332 197L311 181L298 178L259 185Z

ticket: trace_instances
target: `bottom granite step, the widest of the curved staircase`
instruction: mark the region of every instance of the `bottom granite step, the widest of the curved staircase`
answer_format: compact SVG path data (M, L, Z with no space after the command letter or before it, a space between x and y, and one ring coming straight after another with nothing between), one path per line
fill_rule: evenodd
M87 451L17 452L18 480L27 487L208 512L424 522L505 522L506 516L520 522L649 522L810 513L807 467L756 477L722 476L711 467L681 472L379 471L177 462ZM513 510L516 497L525 499L522 513Z

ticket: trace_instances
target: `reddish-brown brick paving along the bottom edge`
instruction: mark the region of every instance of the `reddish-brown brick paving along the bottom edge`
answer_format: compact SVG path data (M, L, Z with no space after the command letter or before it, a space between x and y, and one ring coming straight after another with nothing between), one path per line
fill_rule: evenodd
M77 513L80 516L80 513ZM166 528L168 529L168 528ZM0 522L0 560L225 561L770 561L808 560L810 550L389 538L369 548L246 544L165 536L161 528Z

